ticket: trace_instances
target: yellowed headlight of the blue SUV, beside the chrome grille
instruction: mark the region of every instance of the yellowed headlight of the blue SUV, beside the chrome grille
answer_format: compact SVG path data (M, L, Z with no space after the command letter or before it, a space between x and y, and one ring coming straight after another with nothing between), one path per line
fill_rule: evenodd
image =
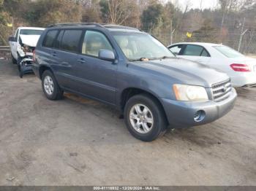
M207 101L206 88L195 85L173 85L178 101Z

